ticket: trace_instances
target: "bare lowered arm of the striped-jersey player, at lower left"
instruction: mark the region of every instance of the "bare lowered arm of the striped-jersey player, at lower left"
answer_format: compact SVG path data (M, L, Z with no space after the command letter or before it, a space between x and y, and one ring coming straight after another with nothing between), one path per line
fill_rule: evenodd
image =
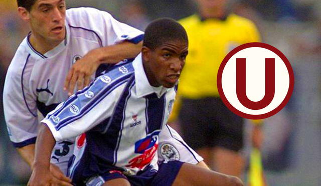
M29 186L51 185L57 183L59 185L72 185L70 179L63 174L59 175L59 171L51 170L55 167L50 164L50 155L56 141L47 125L41 125L36 141L35 160L32 165L32 174L29 179ZM53 175L57 173L56 175ZM60 179L58 180L57 177Z

